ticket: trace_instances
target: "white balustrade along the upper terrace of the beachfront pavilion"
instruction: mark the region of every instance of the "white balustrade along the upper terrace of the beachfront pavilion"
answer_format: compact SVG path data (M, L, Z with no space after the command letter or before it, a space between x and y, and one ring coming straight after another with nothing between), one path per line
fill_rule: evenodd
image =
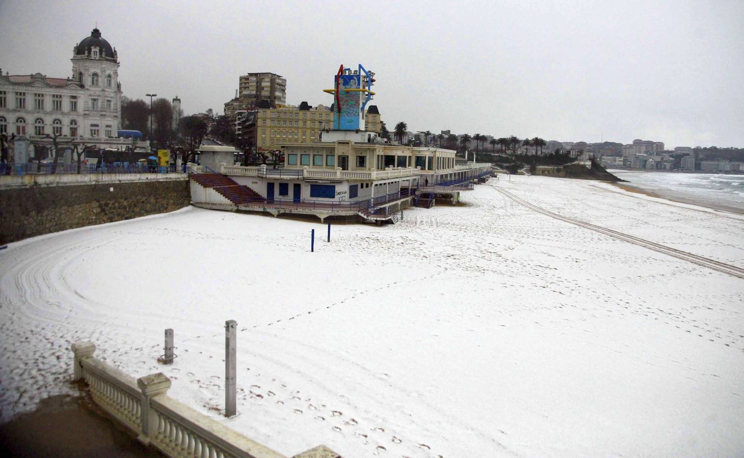
M408 168L369 171L350 171L341 170L340 168L336 168L336 170L311 170L309 167L303 167L302 169L284 168L267 171L265 166L243 167L240 165L227 164L222 164L219 170L225 175L265 176L266 178L340 178L347 180L379 180L385 178L418 176L421 173L421 170L418 167L415 169ZM279 170L286 172L286 174L280 173ZM293 175L292 172L297 172L297 175Z

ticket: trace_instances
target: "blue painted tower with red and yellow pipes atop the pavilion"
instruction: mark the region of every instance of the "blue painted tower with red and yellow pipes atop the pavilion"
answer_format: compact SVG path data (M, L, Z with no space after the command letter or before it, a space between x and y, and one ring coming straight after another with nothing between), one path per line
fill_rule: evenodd
M324 89L324 92L333 94L335 99L334 130L365 130L365 107L374 95L371 90L374 81L374 72L367 71L362 64L359 64L358 70L353 71L341 64L333 80L334 88Z

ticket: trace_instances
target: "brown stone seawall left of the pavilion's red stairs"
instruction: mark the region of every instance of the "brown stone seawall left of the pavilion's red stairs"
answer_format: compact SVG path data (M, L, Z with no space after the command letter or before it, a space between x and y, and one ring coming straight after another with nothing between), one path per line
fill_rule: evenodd
M187 179L0 190L0 245L65 229L165 213L190 203Z

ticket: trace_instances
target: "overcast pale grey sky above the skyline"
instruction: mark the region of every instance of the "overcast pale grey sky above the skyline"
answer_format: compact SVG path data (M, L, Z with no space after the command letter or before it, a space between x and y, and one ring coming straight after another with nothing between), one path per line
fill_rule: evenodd
M0 68L70 76L95 22L124 95L187 114L222 112L248 71L330 105L362 63L388 128L744 146L744 1L0 0Z

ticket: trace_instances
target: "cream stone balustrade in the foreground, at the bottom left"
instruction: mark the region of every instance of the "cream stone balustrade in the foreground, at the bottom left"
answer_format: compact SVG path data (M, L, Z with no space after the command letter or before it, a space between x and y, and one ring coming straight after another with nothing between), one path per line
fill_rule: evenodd
M91 342L73 343L72 351L74 379L86 381L97 404L167 457L284 458L167 396L170 378L161 372L135 380L94 358ZM312 450L295 457L314 456Z

